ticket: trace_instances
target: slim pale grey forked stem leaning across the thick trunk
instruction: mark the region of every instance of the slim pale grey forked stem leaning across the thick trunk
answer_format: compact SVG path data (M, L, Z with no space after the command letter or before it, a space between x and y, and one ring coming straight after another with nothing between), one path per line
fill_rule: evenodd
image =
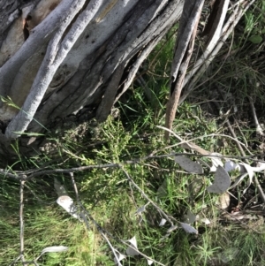
M72 1L72 8L69 9L66 18L58 27L57 33L49 42L46 56L42 61L40 70L34 79L34 83L25 103L21 107L21 110L19 110L19 114L11 120L11 123L6 128L5 137L7 139L16 139L20 136L20 132L24 133L26 131L27 126L33 120L34 114L42 102L42 98L57 68L62 64L64 58L67 56L70 49L72 49L73 44L79 38L79 35L82 34L87 24L94 18L95 13L102 5L102 0L91 0L89 4L87 4L85 11L82 11L79 18L73 23L71 30L62 41L61 39L65 29L70 25L72 19L83 7L85 2L85 0ZM61 41L62 43L59 44Z

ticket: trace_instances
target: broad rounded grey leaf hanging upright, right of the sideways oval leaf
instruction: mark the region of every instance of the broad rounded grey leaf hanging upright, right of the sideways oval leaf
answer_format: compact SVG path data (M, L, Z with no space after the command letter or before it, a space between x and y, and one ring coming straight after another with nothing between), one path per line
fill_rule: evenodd
M207 187L210 193L223 193L231 185L231 179L227 171L222 166L218 166L215 173L214 184Z

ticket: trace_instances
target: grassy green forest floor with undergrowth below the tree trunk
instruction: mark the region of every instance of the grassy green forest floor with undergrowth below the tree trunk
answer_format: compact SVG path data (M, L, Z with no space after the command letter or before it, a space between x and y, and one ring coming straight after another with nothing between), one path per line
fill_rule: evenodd
M23 242L27 261L42 254L33 265L114 265L111 247L117 256L126 256L122 265L152 260L172 266L264 265L264 171L251 171L264 162L265 42L253 37L262 28L264 18L246 14L231 43L178 107L169 142L161 125L169 94L171 33L141 66L106 122L64 127L47 136L42 152L30 158L17 149L18 160L9 171L93 167L28 180L22 194L23 237L21 186L1 179L0 264L22 265L14 260ZM229 172L230 188L222 193L208 189L217 179L208 168L212 160L196 148L183 148L180 140L218 153L223 165L241 163L241 169ZM176 163L176 156L199 163L203 173ZM57 204L61 195L73 199L85 222ZM128 245L135 247L134 239L137 252L128 250ZM68 250L43 251L55 246Z

